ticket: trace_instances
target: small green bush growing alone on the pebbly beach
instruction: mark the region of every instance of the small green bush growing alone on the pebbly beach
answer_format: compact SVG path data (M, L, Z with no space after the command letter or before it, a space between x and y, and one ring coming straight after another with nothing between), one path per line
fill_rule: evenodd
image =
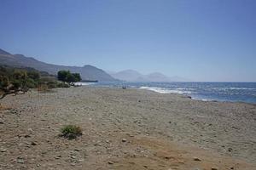
M82 128L75 125L66 125L61 128L61 137L67 139L76 139L82 135Z

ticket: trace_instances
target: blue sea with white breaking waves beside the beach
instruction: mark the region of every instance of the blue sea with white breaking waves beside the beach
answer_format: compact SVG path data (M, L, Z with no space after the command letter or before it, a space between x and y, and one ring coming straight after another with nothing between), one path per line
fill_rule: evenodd
M83 85L141 88L160 94L183 94L204 101L256 104L256 82L89 82Z

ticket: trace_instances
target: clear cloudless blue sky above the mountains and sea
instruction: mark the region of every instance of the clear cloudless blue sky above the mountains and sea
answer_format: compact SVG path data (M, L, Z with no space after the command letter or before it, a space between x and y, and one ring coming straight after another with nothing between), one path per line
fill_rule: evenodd
M58 65L256 82L255 0L0 0L0 48Z

